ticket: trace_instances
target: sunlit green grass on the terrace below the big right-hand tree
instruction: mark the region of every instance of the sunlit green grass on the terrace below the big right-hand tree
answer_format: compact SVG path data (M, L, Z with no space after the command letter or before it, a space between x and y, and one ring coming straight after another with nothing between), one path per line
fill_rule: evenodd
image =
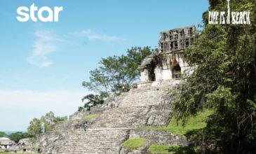
M191 130L198 130L206 127L206 119L211 114L213 114L213 111L210 110L199 112L196 116L189 118L184 127L182 126L181 121L177 123L177 120L173 117L167 127L138 127L135 130L166 130L167 132L184 136Z

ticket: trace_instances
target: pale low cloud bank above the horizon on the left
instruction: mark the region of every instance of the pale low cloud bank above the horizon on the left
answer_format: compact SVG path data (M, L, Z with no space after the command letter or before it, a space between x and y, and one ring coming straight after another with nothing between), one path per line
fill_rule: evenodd
M29 121L40 118L49 111L55 116L70 116L83 106L81 98L86 91L6 91L0 90L1 130L26 130Z

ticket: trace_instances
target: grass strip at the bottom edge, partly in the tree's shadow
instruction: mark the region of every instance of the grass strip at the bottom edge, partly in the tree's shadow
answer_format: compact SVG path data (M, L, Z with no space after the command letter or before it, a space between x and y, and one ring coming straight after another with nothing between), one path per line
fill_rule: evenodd
M151 153L197 153L196 148L189 147L189 146L164 146L164 145L158 145L158 144L152 144L149 147L149 151Z

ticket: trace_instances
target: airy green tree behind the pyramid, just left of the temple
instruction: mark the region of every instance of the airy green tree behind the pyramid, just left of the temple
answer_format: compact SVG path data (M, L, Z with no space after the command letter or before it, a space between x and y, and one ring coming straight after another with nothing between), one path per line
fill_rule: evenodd
M117 94L122 87L129 89L140 75L137 66L144 57L151 54L149 47L135 47L127 50L127 55L102 58L100 66L90 71L90 82L83 86L97 94Z

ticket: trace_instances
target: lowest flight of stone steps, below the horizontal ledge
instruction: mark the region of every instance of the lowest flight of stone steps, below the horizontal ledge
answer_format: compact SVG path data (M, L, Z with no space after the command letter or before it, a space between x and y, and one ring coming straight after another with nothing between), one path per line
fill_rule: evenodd
M128 138L129 130L76 131L58 153L119 153L120 145Z

